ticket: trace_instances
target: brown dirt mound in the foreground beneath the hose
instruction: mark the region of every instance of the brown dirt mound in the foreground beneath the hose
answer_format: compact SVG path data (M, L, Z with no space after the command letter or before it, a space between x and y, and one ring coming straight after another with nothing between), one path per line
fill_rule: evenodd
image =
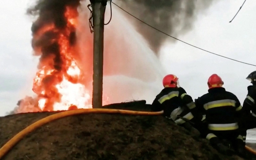
M148 105L105 106L148 110ZM56 112L0 118L0 142ZM3 160L242 160L219 154L204 139L193 139L162 116L85 114L50 122L24 137Z

